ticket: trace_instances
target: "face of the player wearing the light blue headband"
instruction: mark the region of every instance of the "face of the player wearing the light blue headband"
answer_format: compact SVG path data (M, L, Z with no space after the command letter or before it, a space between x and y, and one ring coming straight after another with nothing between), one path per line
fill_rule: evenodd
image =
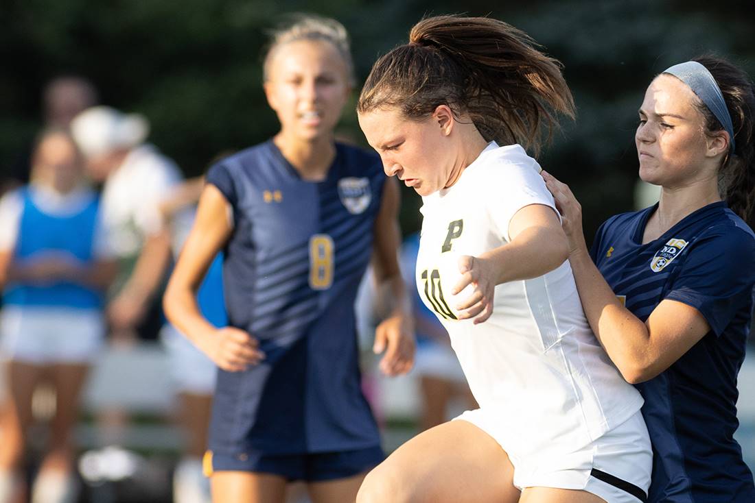
M634 135L639 177L667 188L715 176L706 159L704 116L698 98L673 75L661 74L648 87Z

